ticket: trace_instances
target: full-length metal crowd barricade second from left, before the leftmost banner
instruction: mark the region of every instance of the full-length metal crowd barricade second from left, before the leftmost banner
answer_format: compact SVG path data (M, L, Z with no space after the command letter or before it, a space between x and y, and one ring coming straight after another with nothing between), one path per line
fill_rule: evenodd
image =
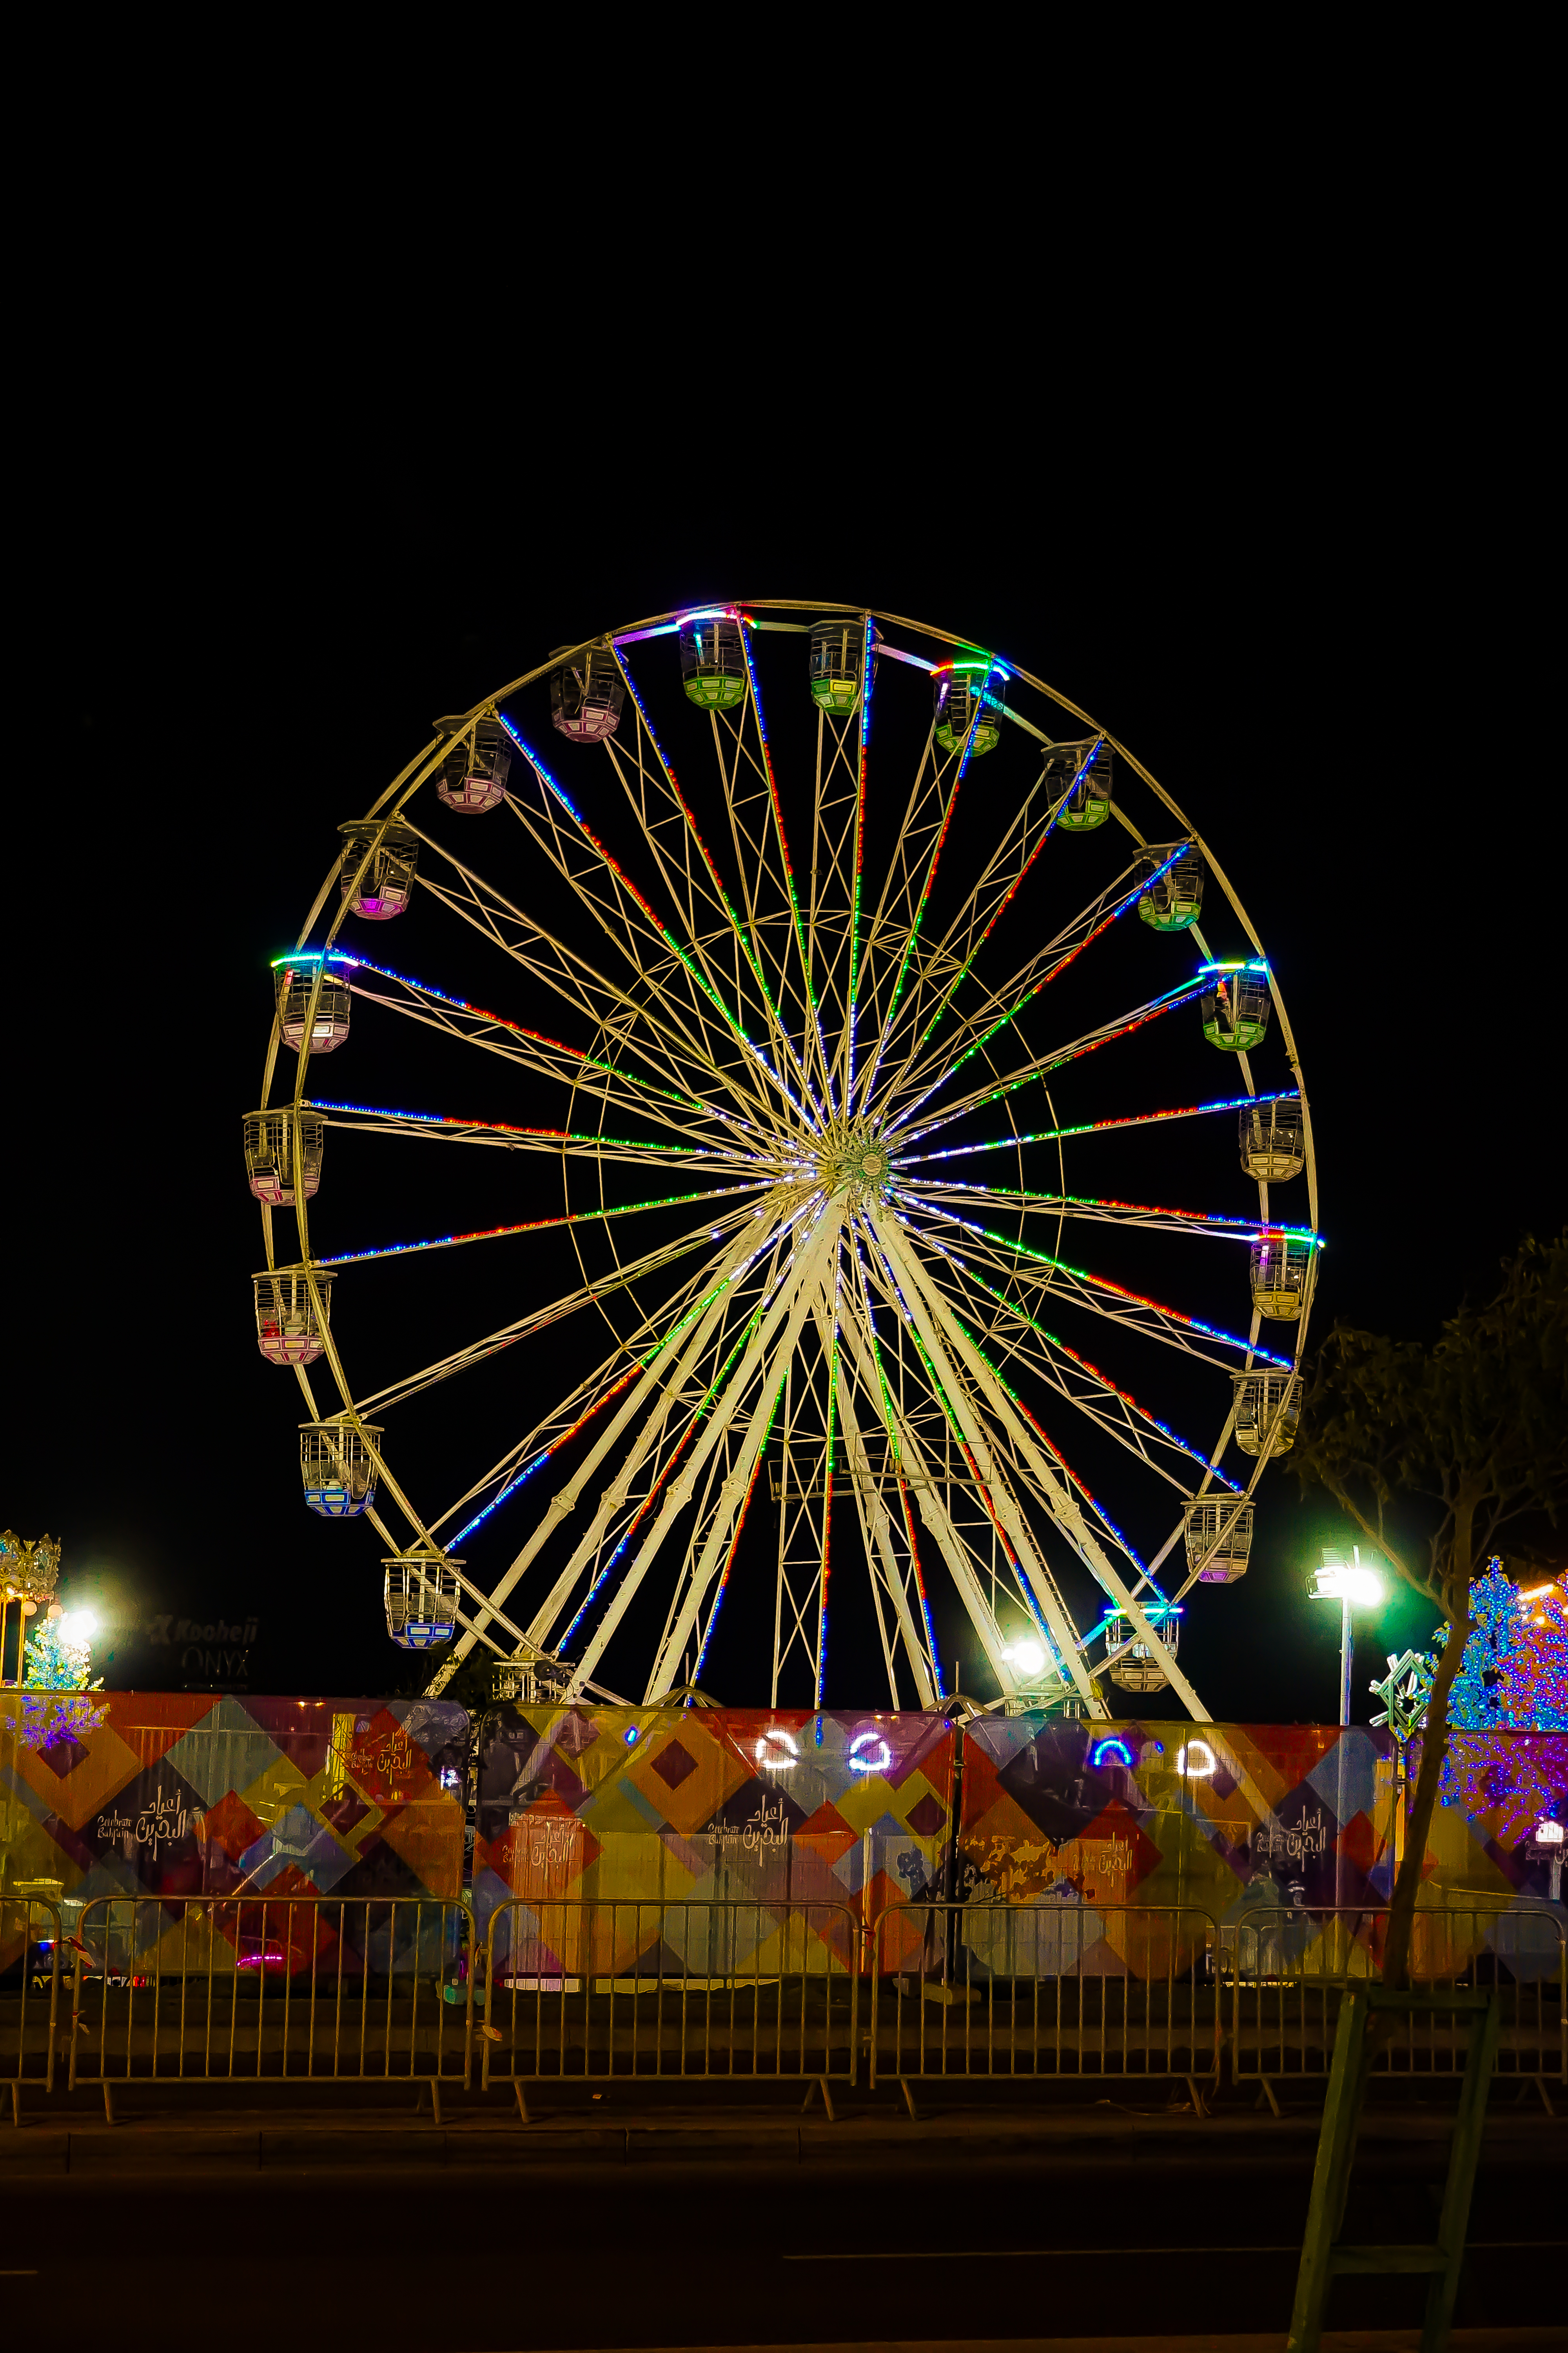
M473 1913L442 1897L94 1897L71 1979L71 2089L468 2085Z

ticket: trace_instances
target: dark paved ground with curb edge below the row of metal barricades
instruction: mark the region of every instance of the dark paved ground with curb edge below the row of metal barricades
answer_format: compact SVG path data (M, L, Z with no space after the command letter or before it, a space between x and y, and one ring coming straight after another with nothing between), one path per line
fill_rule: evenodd
M407 2099L118 2113L0 2122L7 2339L68 2318L134 2353L209 2315L226 2353L277 2353L308 2313L310 2341L418 2353L1276 2353L1316 2148L1309 2111L1131 2104L912 2122L884 2099L827 2122L581 2101L529 2127L498 2101L447 2101L440 2127ZM1356 2235L1432 2235L1448 2120L1446 2104L1368 2118ZM1495 2111L1458 2315L1483 2334L1462 2353L1568 2344L1566 2184L1568 2122ZM1331 2320L1394 2353L1418 2341L1420 2294L1345 2280Z

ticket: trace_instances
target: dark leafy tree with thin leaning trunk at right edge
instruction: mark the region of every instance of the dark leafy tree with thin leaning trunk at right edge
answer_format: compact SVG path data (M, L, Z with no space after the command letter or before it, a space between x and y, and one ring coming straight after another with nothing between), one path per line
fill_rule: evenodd
M1472 1579L1505 1527L1556 1525L1568 1504L1568 1231L1526 1240L1495 1299L1450 1315L1434 1348L1335 1325L1302 1400L1295 1464L1448 1617L1389 1908L1385 1981L1403 1986Z

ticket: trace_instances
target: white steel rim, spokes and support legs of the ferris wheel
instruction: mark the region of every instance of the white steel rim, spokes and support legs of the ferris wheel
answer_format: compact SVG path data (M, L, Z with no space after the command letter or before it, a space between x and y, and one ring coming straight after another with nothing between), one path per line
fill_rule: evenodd
M543 1019L541 1007L557 998L585 1009L597 1028L590 1049L571 1047L541 1028L400 976L381 965L381 955L390 953L390 946L381 946L383 929L364 955L355 951L357 960L341 967L357 998L498 1054L534 1080L564 1082L571 1111L564 1136L545 1127L433 1122L350 1106L327 1106L329 1125L559 1155L567 1202L574 1198L574 1176L590 1176L597 1186L597 1207L567 1209L550 1221L578 1249L583 1282L576 1289L374 1395L355 1395L317 1287L320 1266L343 1261L313 1259L310 1207L303 1195L294 1205L299 1252L284 1264L310 1271L327 1374L339 1398L327 1414L343 1414L360 1428L376 1461L378 1501L386 1506L390 1499L409 1529L400 1546L381 1511L371 1508L369 1518L388 1551L456 1551L475 1520L456 1534L442 1532L468 1506L494 1506L524 1466L567 1447L578 1431L592 1433L567 1482L536 1511L515 1560L491 1591L458 1567L461 1635L437 1666L430 1689L442 1689L456 1661L482 1645L503 1657L548 1664L557 1687L569 1694L602 1692L595 1682L599 1661L628 1607L661 1569L658 1591L668 1588L668 1614L644 1699L684 1689L693 1680L693 1659L701 1673L766 1459L778 1506L773 1701L780 1671L799 1652L811 1673L813 1704L823 1706L830 1581L844 1574L842 1553L851 1525L839 1520L839 1546L837 1553L830 1551L832 1497L835 1487L846 1487L856 1506L860 1560L870 1577L893 1706L905 1704L907 1689L919 1706L940 1706L947 1697L929 1607L929 1579L940 1562L1004 1704L1077 1694L1084 1713L1110 1713L1105 1668L1117 1652L1095 1657L1105 1626L1084 1633L1074 1624L1051 1569L1051 1544L1058 1558L1077 1555L1107 1609L1121 1612L1124 1640L1145 1645L1164 1664L1182 1706L1208 1720L1192 1682L1145 1617L1143 1600L1171 1602L1190 1591L1204 1562L1187 1562L1180 1551L1175 1579L1159 1581L1166 1558L1182 1544L1187 1501L1211 1492L1215 1478L1227 1492L1251 1497L1267 1452L1251 1466L1246 1485L1227 1478L1218 1466L1234 1414L1227 1414L1211 1454L1187 1447L1107 1374L1056 1346L1034 1308L1046 1294L1067 1292L1110 1325L1128 1325L1185 1351L1194 1360L1194 1374L1199 1365L1222 1365L1227 1372L1251 1367L1255 1355L1272 1365L1300 1362L1307 1311L1288 1332L1293 1351L1286 1358L1279 1348L1260 1346L1258 1313L1246 1337L1215 1339L1211 1327L1194 1327L1180 1311L1133 1299L1056 1257L1065 1217L1246 1240L1269 1224L1269 1188L1258 1186L1258 1226L1070 1200L1060 1129L1037 1139L1020 1136L1011 1108L1011 1096L1025 1080L1048 1080L1051 1071L1079 1054L1187 1005L1194 986L1182 984L1164 998L1114 1014L1051 1054L1032 1052L1023 1042L1018 1016L1138 899L1135 868L1128 866L1053 939L1006 969L999 948L1009 934L1009 911L1027 908L1030 875L1067 798L1063 793L1051 800L1044 791L1044 760L1041 779L1016 809L1001 842L985 859L980 880L940 936L926 929L926 918L971 762L973 727L952 751L933 732L926 734L917 774L903 786L898 845L886 873L865 871L877 701L903 689L900 666L914 673L936 668L929 654L893 640L903 633L926 647L971 654L969 640L898 614L832 602L759 600L705 612L741 621L748 668L743 701L731 711L708 713L729 835L717 845L703 840L632 668L635 659L642 668L637 647L644 640L672 635L691 614L658 614L590 640L614 652L625 682L625 708L618 732L602 746L599 793L581 798L595 812L609 809L611 795L628 802L658 873L663 906L632 885L588 816L567 798L545 755L524 741L503 708L508 696L585 647L569 647L510 680L458 722L473 727L480 718L501 715L515 744L505 809L534 845L536 871L550 885L543 896L555 904L559 892L571 894L602 936L597 965L536 913L503 896L468 859L458 859L449 840L451 826L435 833L421 824L421 807L433 798L451 753L449 734L430 741L369 812L381 831L400 824L418 835L416 887L433 892L522 967L531 984L524 991L531 1019ZM809 859L792 859L752 640L757 631L804 638L809 619L825 614L856 616L863 652L877 642L879 671L849 715L816 715L813 831ZM1006 706L997 671L1006 680ZM919 675L907 687L919 692ZM1084 739L1112 751L1168 814L1171 824L1161 819L1161 838L1178 835L1182 847L1194 842L1201 849L1211 885L1225 894L1244 936L1262 958L1262 941L1213 849L1126 746L1056 687L1011 661L997 664L987 675L987 696L976 704L976 713L985 708L1001 708L1009 722L1046 748ZM1063 732L1065 722L1072 722L1072 734ZM590 755L583 751L576 758L588 762ZM581 791L576 776L583 772L574 769L574 791ZM491 816L496 824L508 821L501 809ZM1147 849L1119 800L1112 800L1112 816L1131 838L1133 856ZM355 849L339 856L310 906L299 953L343 953L336 941L353 885L381 831L364 840L348 878L350 889L341 896L343 864L355 859ZM482 849L482 842L480 833L463 835L461 847ZM329 920L322 929L324 915ZM1018 915L1011 929L1020 929ZM313 934L320 934L320 948L306 951ZM1199 925L1190 936L1208 958ZM992 939L999 946L987 953ZM310 1068L310 1031L324 969L322 962L306 1042L292 1073L277 1068L277 1021L266 1054L261 1104L270 1101L282 1080L296 1122L306 1113L322 1115L324 1075ZM1316 1233L1312 1118L1276 981L1272 998L1300 1092L1307 1200ZM1248 1056L1237 1054L1234 1064L1246 1096L1255 1096ZM973 1085L976 1078L983 1082ZM1041 1144L1046 1153L1056 1144L1056 1191L985 1184L973 1174L985 1146L966 1144L957 1155L945 1153L943 1132L983 1101L994 1101L1006 1120L1009 1134L997 1136L997 1146L1011 1148L1018 1167L1025 1144ZM1048 1092L1044 1101L1051 1104ZM1185 1115L1190 1113L1143 1118ZM1053 1111L1051 1118L1056 1120ZM639 1134L607 1134L607 1120L614 1127L635 1125ZM701 1224L675 1242L623 1259L616 1226L621 1217L635 1217L635 1209L607 1202L604 1169L611 1162L670 1172L679 1191L639 1207L691 1205ZM299 1136L294 1165L299 1167ZM277 1214L284 1212L261 1205L268 1268L277 1264ZM1011 1219L1018 1231L985 1224L987 1214ZM1039 1226L1030 1226L1030 1219L1039 1219ZM611 1282L602 1275L590 1280L578 1231L585 1221L599 1224L611 1240L618 1266ZM480 1235L451 1235L428 1247L461 1240ZM355 1252L348 1261L386 1254L390 1252ZM693 1259L701 1261L696 1273ZM609 1318L604 1297L616 1285L649 1280L668 1282L665 1299L628 1339ZM388 1464L381 1431L364 1417L374 1412L386 1419L430 1384L470 1372L590 1304L614 1332L614 1348L597 1372L440 1515L421 1515ZM992 1334L992 1353L973 1334L978 1322ZM1011 1334L1006 1360L994 1355L1001 1327ZM1276 1325L1274 1337L1279 1334ZM1013 1381L1004 1377L1004 1365ZM1086 1414L1128 1449L1145 1475L1175 1489L1175 1527L1152 1560L1138 1560L1110 1515L1074 1482L1044 1426L1016 1393L1020 1374ZM296 1377L313 1419L324 1419L310 1372L301 1365ZM696 1513L686 1518L691 1506ZM534 1572L529 1600L520 1600L524 1574L564 1527L576 1529L571 1553L550 1569ZM1004 1612L1013 1624L1023 1614L1037 1631L1048 1659L1044 1682L1018 1671ZM583 1626L585 1642L569 1652Z

